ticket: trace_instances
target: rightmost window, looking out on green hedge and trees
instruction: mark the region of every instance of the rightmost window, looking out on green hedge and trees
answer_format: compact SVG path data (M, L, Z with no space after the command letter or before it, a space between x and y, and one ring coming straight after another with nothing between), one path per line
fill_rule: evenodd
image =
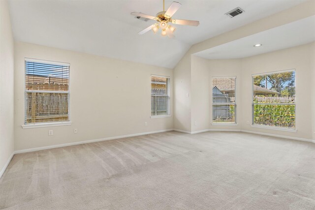
M295 71L252 77L252 124L295 129Z

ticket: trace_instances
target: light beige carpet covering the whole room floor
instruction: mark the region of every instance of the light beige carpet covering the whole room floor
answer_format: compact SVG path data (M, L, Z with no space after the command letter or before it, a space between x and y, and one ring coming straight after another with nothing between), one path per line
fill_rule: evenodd
M315 144L165 132L13 157L0 209L315 209Z

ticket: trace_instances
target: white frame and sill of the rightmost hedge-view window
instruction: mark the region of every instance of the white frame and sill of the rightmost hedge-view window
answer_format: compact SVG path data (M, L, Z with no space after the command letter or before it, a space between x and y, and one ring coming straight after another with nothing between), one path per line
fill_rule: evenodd
M254 97L254 91L253 91L253 78L255 76L261 76L261 75L269 75L269 74L277 74L277 73L284 73L284 72L292 72L294 71L294 83L295 83L295 88L296 88L296 69L286 69L286 70L279 70L279 71L271 71L271 72L265 72L265 73L257 73L257 74L252 74L252 109L251 109L251 116L252 116L252 123L251 127L253 128L263 128L263 129L270 129L270 130L279 130L279 131L288 131L288 132L297 132L296 129L296 97L295 97L295 103L294 103L294 113L295 113L295 118L294 118L294 128L287 128L287 127L281 127L281 126L275 126L275 125L262 125L262 124L254 124L254 113L253 113L253 97ZM295 89L295 94L296 94L296 89ZM285 105L285 104L284 104Z

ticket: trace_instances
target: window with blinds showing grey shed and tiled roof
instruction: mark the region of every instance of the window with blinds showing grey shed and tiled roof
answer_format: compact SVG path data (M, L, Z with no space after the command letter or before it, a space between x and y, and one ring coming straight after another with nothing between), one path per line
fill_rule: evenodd
M236 123L236 77L212 78L212 123Z

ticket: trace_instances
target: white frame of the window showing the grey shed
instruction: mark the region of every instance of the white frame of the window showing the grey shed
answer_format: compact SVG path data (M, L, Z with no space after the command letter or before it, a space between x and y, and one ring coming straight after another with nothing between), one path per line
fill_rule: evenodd
M220 78L226 78L226 79L235 79L235 103L229 103L229 104L234 104L235 106L235 122L213 122L213 79L220 79ZM227 126L235 126L238 125L238 118L237 118L237 82L236 82L237 76L215 76L211 78L211 86L210 86L210 91L211 91L211 125L227 125Z

